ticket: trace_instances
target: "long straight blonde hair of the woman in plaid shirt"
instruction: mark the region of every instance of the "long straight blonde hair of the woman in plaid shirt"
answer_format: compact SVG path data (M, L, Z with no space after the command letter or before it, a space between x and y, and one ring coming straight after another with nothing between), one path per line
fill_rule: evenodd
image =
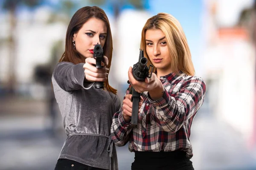
M140 48L142 49L146 49L145 34L148 29L160 29L166 35L168 50L172 57L172 71L176 74L182 71L194 76L195 68L192 63L189 45L179 21L167 13L158 13L149 18L141 33ZM152 65L146 52L144 56L149 60L148 64ZM157 73L156 68L154 68L154 73Z

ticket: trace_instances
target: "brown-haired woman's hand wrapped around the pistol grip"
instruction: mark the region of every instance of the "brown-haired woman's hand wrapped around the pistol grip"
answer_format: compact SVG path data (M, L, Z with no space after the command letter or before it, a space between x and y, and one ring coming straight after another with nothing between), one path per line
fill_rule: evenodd
M85 79L90 82L105 82L108 77L108 57L103 56L102 68L96 68L96 59L86 58L84 68Z

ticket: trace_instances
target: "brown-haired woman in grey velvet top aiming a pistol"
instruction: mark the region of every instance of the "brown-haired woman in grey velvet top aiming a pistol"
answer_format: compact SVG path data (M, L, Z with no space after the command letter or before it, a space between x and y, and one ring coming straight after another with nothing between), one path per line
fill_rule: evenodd
M103 68L95 67L96 44L104 51ZM111 29L105 12L96 6L76 11L67 28L65 52L52 75L67 133L55 170L118 169L110 127L120 100L107 79L112 51ZM104 88L95 88L93 82L104 82Z

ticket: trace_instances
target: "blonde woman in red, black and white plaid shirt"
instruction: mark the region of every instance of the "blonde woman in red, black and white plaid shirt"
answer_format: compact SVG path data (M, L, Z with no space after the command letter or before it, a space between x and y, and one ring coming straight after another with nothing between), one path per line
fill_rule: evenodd
M159 13L145 23L141 47L154 73L139 82L129 68L131 83L122 108L113 116L113 142L135 153L132 170L194 170L189 141L195 114L206 86L195 76L186 36L175 17ZM142 93L138 126L131 128L131 86Z

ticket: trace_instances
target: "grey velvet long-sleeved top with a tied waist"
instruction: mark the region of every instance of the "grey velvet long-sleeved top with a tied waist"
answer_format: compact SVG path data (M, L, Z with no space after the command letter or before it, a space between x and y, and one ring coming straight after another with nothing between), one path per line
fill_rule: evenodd
M53 71L55 99L67 133L59 158L118 170L110 128L120 99L109 91L94 88L93 83L84 83L83 65L59 62Z

